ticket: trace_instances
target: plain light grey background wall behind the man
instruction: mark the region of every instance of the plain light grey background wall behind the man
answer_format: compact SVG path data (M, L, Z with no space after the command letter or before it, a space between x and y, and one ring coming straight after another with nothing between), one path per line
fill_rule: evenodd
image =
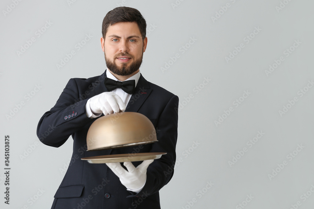
M223 12L221 7L227 3L230 7ZM277 11L280 3L286 5ZM73 140L70 137L60 148L38 143L37 123L70 78L97 76L106 69L101 24L106 13L119 4L137 8L148 31L154 25L147 34L141 73L180 98L176 152L181 162L176 162L172 180L160 190L162 208L241 208L238 204L243 201L245 208L288 209L297 201L298 208L313 207L314 88L305 89L302 97L298 94L314 79L312 1L77 0L69 4L32 0L12 4L12 0L0 3L0 169L5 167L5 135L10 135L11 167L10 205L4 204L4 170L0 172L2 208L50 208L65 174L62 169L71 158ZM8 7L14 8L4 14ZM221 16L213 22L219 10ZM37 37L36 31L46 21L51 26ZM246 43L243 39L255 27L261 30ZM86 34L93 37L78 51L75 45ZM18 55L32 37L36 41ZM196 40L189 45L191 38ZM301 43L286 57L284 50L295 40ZM227 63L225 57L241 43L245 47ZM189 48L182 54L186 44ZM71 50L76 54L58 70L56 65ZM162 71L176 53L180 57ZM265 70L280 56L284 61L267 76ZM202 85L204 77L211 79L207 85ZM37 92L35 85L41 87ZM197 92L196 86L203 88ZM236 107L233 102L243 91L250 94ZM28 93L33 93L32 98L25 97ZM298 101L280 115L279 110L294 97ZM7 118L20 102L24 106ZM214 121L230 107L234 111L216 125ZM265 134L249 147L247 142L258 131ZM199 145L193 147L195 143ZM287 158L298 145L304 148ZM230 167L228 161L243 148L247 152ZM284 160L287 165L277 168ZM280 172L270 179L268 175L276 168ZM210 189L206 189L208 182L213 183ZM39 189L42 195L30 201ZM306 192L308 198L302 196ZM250 195L252 200L246 199Z

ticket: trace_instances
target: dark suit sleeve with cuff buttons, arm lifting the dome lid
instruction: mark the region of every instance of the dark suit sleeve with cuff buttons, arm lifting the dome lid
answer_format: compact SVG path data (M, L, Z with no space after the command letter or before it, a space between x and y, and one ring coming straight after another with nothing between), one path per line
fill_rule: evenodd
M37 136L48 146L60 147L69 136L85 124L91 122L85 113L88 98L79 101L79 91L75 79L70 79L57 103L46 112L37 126Z

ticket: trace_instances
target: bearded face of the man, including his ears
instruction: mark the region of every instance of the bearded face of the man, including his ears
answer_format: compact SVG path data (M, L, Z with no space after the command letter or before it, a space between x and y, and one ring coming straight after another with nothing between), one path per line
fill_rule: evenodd
M135 22L121 22L108 27L102 50L108 69L116 75L128 76L138 72L147 46Z

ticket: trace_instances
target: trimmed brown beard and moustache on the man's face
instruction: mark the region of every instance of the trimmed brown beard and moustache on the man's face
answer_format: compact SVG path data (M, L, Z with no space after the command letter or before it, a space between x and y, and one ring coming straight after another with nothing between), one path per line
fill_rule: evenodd
M133 60L133 62L131 63L131 65L127 66L128 63L122 62L121 66L116 65L115 60L117 57L119 56L128 56L131 57L131 59ZM131 75L132 73L134 73L135 71L137 71L139 69L139 67L142 64L143 61L143 52L142 52L142 56L138 59L138 60L134 60L134 56L130 55L128 53L124 53L121 52L119 54L117 54L114 58L113 61L110 60L109 58L106 57L106 52L105 52L105 60L106 60L106 65L107 68L114 74L118 75L118 76L128 76Z

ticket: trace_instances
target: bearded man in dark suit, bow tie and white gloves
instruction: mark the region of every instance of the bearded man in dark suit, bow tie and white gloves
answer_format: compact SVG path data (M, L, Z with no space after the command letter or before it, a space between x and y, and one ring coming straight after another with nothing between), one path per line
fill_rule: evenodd
M49 146L59 147L70 135L73 138L71 164L51 208L160 208L159 190L170 181L176 161L178 97L146 81L139 72L147 37L146 22L138 10L118 7L108 12L102 35L107 70L101 76L70 79L37 127L41 142ZM116 81L123 83L112 88ZM86 135L91 123L102 114L120 111L148 117L158 142L87 152ZM120 163L89 164L80 160L134 151L167 154L160 159L127 162L125 168Z

